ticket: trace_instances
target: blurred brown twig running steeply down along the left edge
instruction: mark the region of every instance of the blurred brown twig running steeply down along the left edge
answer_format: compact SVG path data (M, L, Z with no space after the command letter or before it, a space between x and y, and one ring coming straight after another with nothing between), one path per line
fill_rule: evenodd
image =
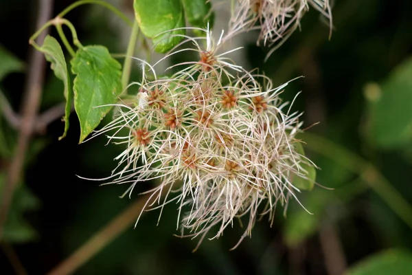
M36 29L41 28L50 17L52 17L53 0L40 0L38 7L38 17ZM39 40L45 39L46 32L41 34ZM21 175L25 154L29 145L30 137L33 131L33 122L36 121L45 74L45 58L41 52L32 49L30 55L30 68L27 76L25 94L23 98L23 117L21 120L21 129L17 142L14 157L8 169L8 175L5 180L5 188L0 208L0 242L3 234L3 225L7 219L10 202L16 188L16 183Z

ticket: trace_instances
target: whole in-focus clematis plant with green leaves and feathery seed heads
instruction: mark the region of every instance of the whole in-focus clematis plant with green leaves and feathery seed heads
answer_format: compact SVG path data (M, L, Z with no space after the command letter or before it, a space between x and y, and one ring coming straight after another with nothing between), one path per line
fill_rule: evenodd
M136 19L123 66L106 47L80 43L73 25L63 18L76 5L69 7L44 28L58 29L71 55L73 85L58 41L48 36L42 46L36 45L44 28L31 40L65 82L67 106L73 100L80 120L80 142L90 134L89 142L106 135L124 148L111 175L94 180L125 184L124 195L141 182L155 180L145 192L149 199L141 212L175 204L181 236L198 237L199 244L208 233L211 239L221 236L236 219L247 221L242 241L251 236L258 219L266 217L272 224L278 205L286 211L290 199L315 182L316 166L297 137L301 113L291 111L293 102L282 100L288 83L274 85L258 69L236 65L231 54L239 48L229 48L227 42L260 28L260 41L273 45L297 28L308 3L331 18L329 3L234 3L227 32L214 36L214 5L209 1L135 0ZM104 6L119 14L113 6ZM71 30L78 50L67 41L62 25ZM155 63L133 57L138 39L151 40L148 54L156 50L165 55ZM177 56L183 61L176 62ZM135 69L141 70L140 79L129 79L131 63L139 65ZM132 86L137 86L137 94L128 94ZM111 110L111 121L98 128Z

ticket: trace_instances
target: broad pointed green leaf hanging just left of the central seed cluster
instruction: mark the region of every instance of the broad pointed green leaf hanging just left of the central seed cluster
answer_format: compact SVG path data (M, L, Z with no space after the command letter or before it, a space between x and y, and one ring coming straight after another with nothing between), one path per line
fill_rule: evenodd
M122 66L106 47L93 45L78 50L71 61L74 78L74 107L80 120L80 142L111 110L122 93Z

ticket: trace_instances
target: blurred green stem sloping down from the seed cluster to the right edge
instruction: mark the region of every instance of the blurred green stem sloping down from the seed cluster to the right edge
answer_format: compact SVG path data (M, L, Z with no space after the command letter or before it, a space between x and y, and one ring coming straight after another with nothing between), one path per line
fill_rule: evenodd
M306 147L311 151L334 159L335 162L341 164L348 170L361 175L369 187L386 201L393 212L398 214L398 217L412 229L411 204L402 197L398 190L393 188L391 183L385 179L373 164L343 146L323 137L305 133L304 140L307 142Z

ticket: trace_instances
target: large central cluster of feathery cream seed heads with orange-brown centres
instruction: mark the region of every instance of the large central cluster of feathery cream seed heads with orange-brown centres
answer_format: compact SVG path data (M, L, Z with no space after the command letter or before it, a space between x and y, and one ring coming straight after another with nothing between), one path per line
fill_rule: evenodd
M197 56L170 67L172 76L157 78L156 65L146 64L135 104L117 105L113 121L95 135L126 146L111 184L130 184L128 193L158 180L146 210L176 203L182 236L198 236L199 243L211 228L213 239L244 217L241 241L260 217L273 222L277 203L287 206L299 191L293 179L306 178L302 164L312 164L295 150L300 113L279 98L287 83L275 88L235 65L227 57L233 50L222 52L229 36L216 42L204 31L165 57Z

